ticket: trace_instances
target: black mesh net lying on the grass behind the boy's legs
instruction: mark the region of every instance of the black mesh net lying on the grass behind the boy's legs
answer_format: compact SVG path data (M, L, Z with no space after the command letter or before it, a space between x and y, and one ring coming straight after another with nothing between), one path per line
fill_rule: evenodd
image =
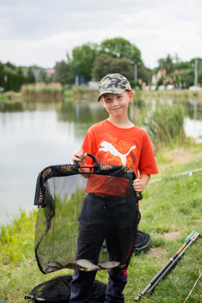
M35 303L40 301L44 303L69 303L71 295L72 281L71 275L64 275L43 282L32 289L30 295L25 299L32 299ZM107 284L97 280L93 283L93 289L90 296L90 303L103 303L106 297Z

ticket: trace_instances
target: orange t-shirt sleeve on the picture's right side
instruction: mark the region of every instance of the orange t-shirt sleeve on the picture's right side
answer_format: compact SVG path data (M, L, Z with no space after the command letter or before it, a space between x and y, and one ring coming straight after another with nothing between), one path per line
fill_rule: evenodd
M155 175L159 173L154 151L146 132L143 134L142 149L140 153L138 170L140 175Z

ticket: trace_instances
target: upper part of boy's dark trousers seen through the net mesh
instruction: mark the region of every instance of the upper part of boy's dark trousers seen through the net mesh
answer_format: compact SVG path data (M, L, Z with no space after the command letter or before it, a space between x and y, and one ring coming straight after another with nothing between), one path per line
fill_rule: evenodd
M87 259L97 264L106 239L110 261L127 264L134 243L136 214L134 204L129 205L124 197L86 195L78 217L76 260Z

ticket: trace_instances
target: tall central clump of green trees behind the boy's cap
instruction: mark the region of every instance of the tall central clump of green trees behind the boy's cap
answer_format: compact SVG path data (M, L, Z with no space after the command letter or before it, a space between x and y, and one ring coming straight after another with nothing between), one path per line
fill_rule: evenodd
M148 82L150 70L144 66L135 44L121 37L106 39L100 44L86 43L75 47L71 57L67 54L67 62L56 63L53 80L62 84L74 83L75 76L78 76L87 83L99 81L107 74L121 73L135 84L134 64L137 64L138 75Z

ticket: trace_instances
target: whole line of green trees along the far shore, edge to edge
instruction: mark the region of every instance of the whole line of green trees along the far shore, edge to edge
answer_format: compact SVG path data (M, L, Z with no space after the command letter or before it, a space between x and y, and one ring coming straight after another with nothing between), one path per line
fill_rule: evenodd
M138 83L134 82L134 64L137 65ZM158 60L158 66L154 69L145 67L141 52L129 40L122 37L106 39L100 43L86 43L76 46L72 50L71 56L67 54L67 59L57 62L54 69L55 74L47 78L44 69L36 66L28 68L26 77L23 70L26 67L17 67L11 63L0 62L0 86L5 90L19 91L23 83L35 83L33 68L41 70L37 81L60 82L62 85L73 84L78 76L79 84L81 78L85 84L88 81L99 81L107 74L121 73L128 78L132 87L151 84L151 77L164 71L158 78L158 85L173 84L175 87L188 88L194 84L194 64L195 59L189 62L182 62L176 55L172 58ZM27 69L27 68L26 68ZM198 58L197 82L202 86L202 59Z

